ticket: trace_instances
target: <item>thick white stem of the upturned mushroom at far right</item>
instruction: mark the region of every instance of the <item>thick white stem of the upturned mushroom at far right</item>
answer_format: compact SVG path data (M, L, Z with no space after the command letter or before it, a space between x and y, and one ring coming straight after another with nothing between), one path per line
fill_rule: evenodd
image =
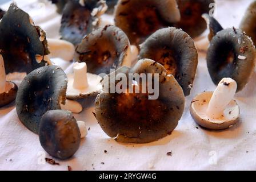
M211 97L206 111L207 116L214 119L221 118L223 111L233 100L235 92L237 92L237 82L232 78L223 78Z

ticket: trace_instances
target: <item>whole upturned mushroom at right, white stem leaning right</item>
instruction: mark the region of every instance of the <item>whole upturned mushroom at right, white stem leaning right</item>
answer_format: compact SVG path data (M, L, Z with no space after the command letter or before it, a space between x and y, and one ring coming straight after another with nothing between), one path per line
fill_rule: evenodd
M238 122L239 106L233 100L237 82L223 78L214 92L204 92L194 98L190 113L198 125L211 130L227 129Z

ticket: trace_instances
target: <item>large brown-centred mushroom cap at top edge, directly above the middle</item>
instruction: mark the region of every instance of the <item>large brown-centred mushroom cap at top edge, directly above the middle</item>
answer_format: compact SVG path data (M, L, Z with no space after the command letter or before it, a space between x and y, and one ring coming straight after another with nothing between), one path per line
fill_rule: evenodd
M115 25L129 37L131 44L139 45L157 31L180 19L176 1L120 0L115 8Z

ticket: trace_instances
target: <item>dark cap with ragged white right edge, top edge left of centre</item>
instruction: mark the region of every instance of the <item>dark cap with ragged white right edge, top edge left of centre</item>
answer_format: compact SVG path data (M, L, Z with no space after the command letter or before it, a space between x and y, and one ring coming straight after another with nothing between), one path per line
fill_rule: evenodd
M60 34L74 45L99 25L100 16L107 10L105 1L69 1L63 10Z

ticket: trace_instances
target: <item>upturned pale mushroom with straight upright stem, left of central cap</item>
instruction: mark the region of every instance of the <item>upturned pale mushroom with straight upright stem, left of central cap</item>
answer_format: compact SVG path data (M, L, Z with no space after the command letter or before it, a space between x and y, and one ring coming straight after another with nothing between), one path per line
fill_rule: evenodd
M102 77L87 73L87 65L83 63L75 63L74 73L67 75L69 80L67 83L67 98L79 99L89 96L97 96L102 90Z

